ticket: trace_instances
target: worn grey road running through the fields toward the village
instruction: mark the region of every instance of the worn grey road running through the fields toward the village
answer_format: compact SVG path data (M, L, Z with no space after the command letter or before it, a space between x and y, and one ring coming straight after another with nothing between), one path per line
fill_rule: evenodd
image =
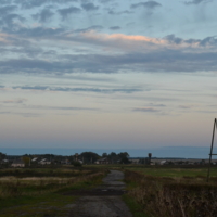
M125 192L123 179L122 171L111 170L102 186L79 192L82 196L72 204L68 217L132 217L120 197Z

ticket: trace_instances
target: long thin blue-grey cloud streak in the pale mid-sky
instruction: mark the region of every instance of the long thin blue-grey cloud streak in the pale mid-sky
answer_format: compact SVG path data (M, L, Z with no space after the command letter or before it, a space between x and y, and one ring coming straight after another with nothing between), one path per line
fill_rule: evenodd
M139 88L115 88L115 89L102 89L102 88L60 88L60 87L48 87L48 86L23 86L23 87L13 87L13 89L22 90L41 90L41 91L61 91L61 92L94 92L94 93L132 93L141 92L142 89Z

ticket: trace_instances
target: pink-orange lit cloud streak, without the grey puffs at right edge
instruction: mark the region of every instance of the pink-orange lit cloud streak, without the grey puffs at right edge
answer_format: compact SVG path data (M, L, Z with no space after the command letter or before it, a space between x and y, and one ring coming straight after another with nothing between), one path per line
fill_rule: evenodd
M103 34L95 30L82 31L79 34L69 34L68 38L77 40L79 42L91 43L95 46L102 46L107 48L116 48L122 50L137 50L148 51L157 50L162 48L168 49L186 49L186 48L200 48L199 41L188 42L188 40L176 41L167 38L152 38L140 35L125 35L125 34ZM203 48L204 49L204 48Z

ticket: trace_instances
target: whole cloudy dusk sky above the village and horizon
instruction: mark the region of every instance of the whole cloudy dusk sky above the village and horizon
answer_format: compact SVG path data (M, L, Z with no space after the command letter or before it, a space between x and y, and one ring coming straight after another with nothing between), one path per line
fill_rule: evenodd
M0 0L0 152L201 157L201 149L208 157L216 8L215 0Z

